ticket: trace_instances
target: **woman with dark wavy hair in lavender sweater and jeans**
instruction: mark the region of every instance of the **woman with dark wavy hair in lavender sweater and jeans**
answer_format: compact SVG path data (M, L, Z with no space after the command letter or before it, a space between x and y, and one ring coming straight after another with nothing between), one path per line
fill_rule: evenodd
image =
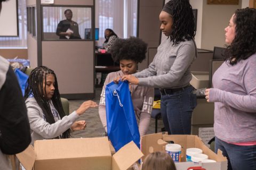
M230 169L256 169L256 9L235 11L225 28L225 62L206 89L214 102L215 152Z

